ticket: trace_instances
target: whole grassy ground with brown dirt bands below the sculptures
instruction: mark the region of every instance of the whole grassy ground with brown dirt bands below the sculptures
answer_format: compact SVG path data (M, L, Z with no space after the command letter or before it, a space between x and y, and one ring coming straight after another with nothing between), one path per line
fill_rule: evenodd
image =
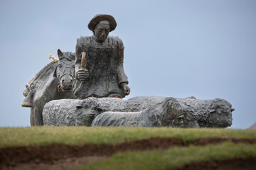
M222 164L232 160L238 162L237 159L241 164L248 160L256 162L255 130L0 128L0 139L0 168L4 169L9 166L28 169L31 164L38 164L35 162L48 165L50 169L53 159L55 165L60 164L60 160L63 165L70 158L75 162L88 157L103 158L81 164L70 162L65 168L188 169L191 164L198 166L203 162ZM18 156L18 153L22 154Z

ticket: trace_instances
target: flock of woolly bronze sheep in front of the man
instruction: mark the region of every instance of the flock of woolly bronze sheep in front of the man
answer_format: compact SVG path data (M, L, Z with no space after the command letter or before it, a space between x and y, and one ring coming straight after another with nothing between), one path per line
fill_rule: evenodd
M44 125L142 126L226 128L232 125L233 108L221 98L169 98L139 96L62 99L46 103Z

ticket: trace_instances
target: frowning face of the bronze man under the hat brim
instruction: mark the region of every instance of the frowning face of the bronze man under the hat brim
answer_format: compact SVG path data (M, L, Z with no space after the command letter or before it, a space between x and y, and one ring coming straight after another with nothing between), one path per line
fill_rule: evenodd
M104 42L107 39L107 35L110 33L110 23L108 21L100 21L94 30L95 37L100 42Z

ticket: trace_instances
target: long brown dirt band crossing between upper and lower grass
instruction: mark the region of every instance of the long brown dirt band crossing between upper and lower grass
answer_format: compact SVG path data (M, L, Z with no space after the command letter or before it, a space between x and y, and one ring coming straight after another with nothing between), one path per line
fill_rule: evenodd
M10 147L0 149L0 169L15 167L26 167L29 169L33 164L39 168L39 164L54 165L63 164L71 160L70 164L73 166L79 166L75 164L75 159L92 159L97 160L102 157L109 157L115 152L125 152L129 150L147 150L147 149L168 149L174 146L188 146L188 145L208 145L218 144L220 142L243 142L243 143L256 143L254 140L245 139L230 139L230 138L201 138L194 142L183 142L183 140L176 138L161 138L151 137L145 140L138 140L132 142L123 142L117 145L82 145L82 146L68 146L68 145L50 145L50 146L28 146L28 147ZM60 162L60 163L59 163ZM90 162L90 161L89 161ZM74 163L74 164L73 164ZM81 163L82 165L83 163ZM42 166L42 167L43 167ZM65 166L68 167L68 166ZM20 168L19 168L20 169ZM33 169L35 167L33 166ZM49 169L49 168L44 168ZM57 169L57 168L55 168Z

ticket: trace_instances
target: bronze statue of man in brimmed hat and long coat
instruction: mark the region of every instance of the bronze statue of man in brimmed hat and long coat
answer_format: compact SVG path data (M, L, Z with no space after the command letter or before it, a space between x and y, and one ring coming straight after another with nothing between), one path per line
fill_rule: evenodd
M124 73L124 45L119 37L108 36L117 26L114 17L98 14L88 24L92 36L78 38L75 47L75 96L117 97L129 95ZM81 67L82 52L86 53L85 68Z

